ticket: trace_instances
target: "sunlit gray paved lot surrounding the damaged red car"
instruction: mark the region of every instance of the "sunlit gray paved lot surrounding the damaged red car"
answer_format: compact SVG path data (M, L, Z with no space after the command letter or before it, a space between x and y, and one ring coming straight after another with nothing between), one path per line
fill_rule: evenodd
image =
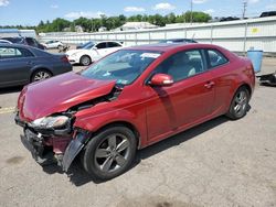
M275 69L265 58L263 73ZM276 87L256 86L244 119L220 117L141 150L105 183L77 163L64 174L33 161L9 109L19 90L0 90L0 206L276 206Z

